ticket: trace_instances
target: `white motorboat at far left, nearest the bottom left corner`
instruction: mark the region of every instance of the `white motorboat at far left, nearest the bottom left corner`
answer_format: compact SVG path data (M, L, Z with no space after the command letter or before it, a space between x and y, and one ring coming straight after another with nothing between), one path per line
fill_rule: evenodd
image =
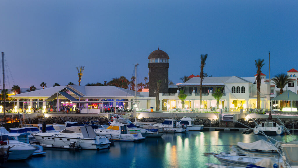
M8 135L1 134L1 141L6 142L10 147L8 160L25 160L36 150L34 146L14 140Z

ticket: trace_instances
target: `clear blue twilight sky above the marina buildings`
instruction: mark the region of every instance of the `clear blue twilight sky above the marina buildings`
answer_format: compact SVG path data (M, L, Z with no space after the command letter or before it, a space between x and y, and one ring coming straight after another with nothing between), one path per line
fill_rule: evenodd
M265 59L271 77L298 70L298 1L0 1L0 51L14 82L82 85L133 75L148 77L148 55L160 46L170 56L169 79L204 71L253 77ZM1 71L2 74L2 71ZM140 79L141 78L141 79ZM267 76L268 78L268 76ZM2 83L2 77L1 77Z

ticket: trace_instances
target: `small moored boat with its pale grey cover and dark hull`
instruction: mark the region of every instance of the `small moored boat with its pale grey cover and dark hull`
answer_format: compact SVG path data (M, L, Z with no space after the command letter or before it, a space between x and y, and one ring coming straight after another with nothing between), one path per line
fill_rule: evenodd
M237 147L249 153L272 154L272 155L278 154L277 152L278 149L272 143L265 141L263 139L257 140L252 143L238 142Z

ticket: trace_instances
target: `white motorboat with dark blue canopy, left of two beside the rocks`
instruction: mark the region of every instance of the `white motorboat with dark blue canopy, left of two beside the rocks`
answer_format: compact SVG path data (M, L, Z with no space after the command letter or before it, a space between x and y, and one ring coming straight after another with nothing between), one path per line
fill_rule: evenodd
M165 119L163 123L153 124L153 126L157 126L160 128L164 128L165 132L186 132L187 126L177 126L177 120L173 119Z

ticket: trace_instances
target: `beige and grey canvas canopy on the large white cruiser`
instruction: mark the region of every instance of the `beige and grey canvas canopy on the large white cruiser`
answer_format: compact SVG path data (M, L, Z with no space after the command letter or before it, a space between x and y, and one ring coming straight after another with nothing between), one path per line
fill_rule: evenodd
M82 133L84 138L95 138L95 132L91 126L71 126L66 127L61 133Z

